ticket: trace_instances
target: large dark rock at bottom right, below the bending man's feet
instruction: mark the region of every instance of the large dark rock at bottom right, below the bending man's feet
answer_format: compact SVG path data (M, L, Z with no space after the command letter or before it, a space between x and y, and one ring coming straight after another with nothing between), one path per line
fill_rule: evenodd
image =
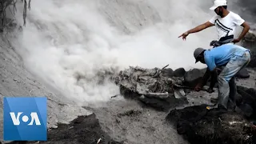
M207 110L206 105L171 110L166 121L177 127L191 144L253 143L255 129L241 114Z

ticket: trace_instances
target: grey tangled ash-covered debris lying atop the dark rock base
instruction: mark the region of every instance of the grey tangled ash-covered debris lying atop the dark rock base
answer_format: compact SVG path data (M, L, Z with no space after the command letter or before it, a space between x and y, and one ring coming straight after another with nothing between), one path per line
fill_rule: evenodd
M148 94L168 94L174 93L173 85L182 84L181 78L170 78L162 74L158 68L143 69L141 67L132 67L122 70L115 82L127 90L142 95Z

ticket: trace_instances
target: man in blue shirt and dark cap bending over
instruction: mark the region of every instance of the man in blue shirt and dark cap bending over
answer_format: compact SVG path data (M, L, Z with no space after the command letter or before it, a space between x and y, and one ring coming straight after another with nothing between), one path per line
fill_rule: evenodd
M194 50L194 58L196 63L205 63L207 71L214 74L217 74L216 71L219 66L224 66L222 72L218 75L218 107L227 109L230 95L230 79L234 78L234 75L239 70L248 65L250 62L250 50L232 44L218 46L211 50L197 48ZM198 84L195 90L201 90L201 86L201 84Z

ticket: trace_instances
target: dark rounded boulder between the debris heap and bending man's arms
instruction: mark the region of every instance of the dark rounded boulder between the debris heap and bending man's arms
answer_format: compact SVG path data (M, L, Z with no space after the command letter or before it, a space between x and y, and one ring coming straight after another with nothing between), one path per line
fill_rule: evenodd
M198 84L202 76L205 74L206 69L193 69L190 71L187 71L184 76L184 85L194 87Z

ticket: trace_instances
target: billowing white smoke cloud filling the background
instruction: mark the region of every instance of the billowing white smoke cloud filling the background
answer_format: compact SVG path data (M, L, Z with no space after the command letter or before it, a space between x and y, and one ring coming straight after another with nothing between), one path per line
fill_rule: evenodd
M25 65L66 97L107 101L119 89L98 72L106 75L128 66L205 66L194 64L193 52L198 46L210 48L214 27L190 34L186 42L178 38L214 15L208 7L210 13L200 9L200 2L35 0L26 27L13 43ZM16 17L22 24L21 14Z

